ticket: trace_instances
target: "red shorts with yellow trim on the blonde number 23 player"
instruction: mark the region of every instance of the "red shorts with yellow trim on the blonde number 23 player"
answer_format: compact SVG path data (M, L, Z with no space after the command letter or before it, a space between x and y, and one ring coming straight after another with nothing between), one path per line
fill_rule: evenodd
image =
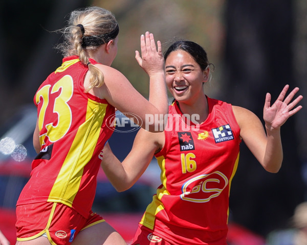
M85 218L61 203L35 203L16 207L17 240L47 236L51 244L70 244L83 229L105 220L96 213Z

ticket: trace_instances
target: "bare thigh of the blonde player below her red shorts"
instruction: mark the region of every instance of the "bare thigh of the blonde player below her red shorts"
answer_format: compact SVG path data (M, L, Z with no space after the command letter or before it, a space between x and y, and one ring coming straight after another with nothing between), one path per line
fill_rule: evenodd
M106 222L98 223L78 233L72 245L127 245L122 236Z

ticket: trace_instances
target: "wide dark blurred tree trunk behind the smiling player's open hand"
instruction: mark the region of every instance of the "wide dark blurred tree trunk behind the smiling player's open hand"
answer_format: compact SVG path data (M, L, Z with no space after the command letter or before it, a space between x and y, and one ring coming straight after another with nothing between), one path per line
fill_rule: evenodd
M227 2L224 99L259 118L266 92L273 102L284 85L298 86L293 74L293 4L291 0ZM233 220L262 235L286 225L303 201L295 120L297 115L281 129L284 160L278 174L267 173L242 144L230 208Z

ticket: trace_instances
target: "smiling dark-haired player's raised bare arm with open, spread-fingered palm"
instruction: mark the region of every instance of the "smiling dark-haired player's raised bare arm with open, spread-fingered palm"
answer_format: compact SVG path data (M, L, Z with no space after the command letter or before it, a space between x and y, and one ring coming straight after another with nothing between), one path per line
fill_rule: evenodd
M264 106L266 131L254 113L242 107L233 106L240 127L240 136L260 164L271 173L278 172L283 159L280 127L302 108L302 106L296 107L302 100L302 95L292 101L299 89L294 88L285 99L288 89L289 85L284 86L272 106L271 94L267 93Z

